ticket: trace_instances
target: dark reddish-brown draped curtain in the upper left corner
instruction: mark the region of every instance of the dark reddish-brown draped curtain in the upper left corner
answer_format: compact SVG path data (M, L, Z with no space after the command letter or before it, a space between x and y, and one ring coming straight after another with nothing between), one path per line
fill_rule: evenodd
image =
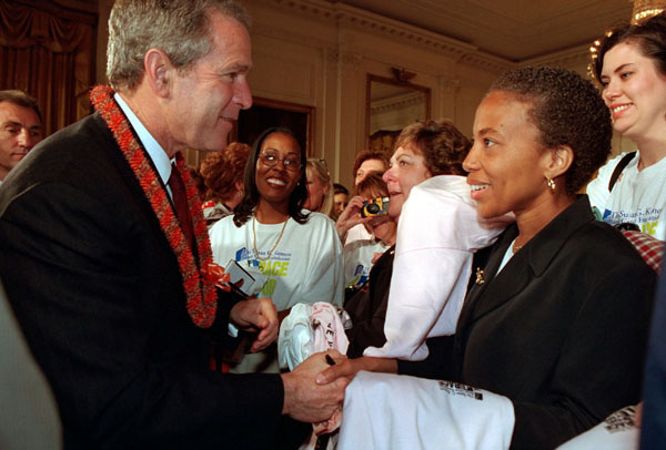
M39 103L49 135L90 113L97 16L54 2L0 2L0 90Z

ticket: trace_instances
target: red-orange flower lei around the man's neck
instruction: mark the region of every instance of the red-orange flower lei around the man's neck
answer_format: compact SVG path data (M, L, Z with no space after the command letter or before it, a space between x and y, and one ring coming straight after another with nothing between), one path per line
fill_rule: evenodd
M164 232L169 245L171 245L178 258L178 265L183 278L183 289L186 296L186 308L192 321L201 328L210 327L215 319L218 308L218 294L214 283L221 276L221 267L213 264L208 229L201 212L201 201L196 194L196 186L194 186L190 172L185 168L182 154L180 152L175 154L175 166L185 185L188 206L199 250L199 260L195 260L188 239L181 229L167 188L148 162L145 151L134 137L130 122L113 100L113 90L109 86L98 85L90 93L90 100L113 133L113 137L118 142L118 145L120 145L120 150L130 164L130 167L132 167L145 197L150 201L160 221L160 227ZM200 269L200 267L203 267L203 269Z

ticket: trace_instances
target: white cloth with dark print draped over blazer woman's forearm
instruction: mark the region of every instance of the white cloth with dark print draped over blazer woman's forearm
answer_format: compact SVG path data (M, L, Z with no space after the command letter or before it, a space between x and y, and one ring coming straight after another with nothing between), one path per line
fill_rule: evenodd
M344 396L340 450L507 449L509 399L451 381L360 371Z

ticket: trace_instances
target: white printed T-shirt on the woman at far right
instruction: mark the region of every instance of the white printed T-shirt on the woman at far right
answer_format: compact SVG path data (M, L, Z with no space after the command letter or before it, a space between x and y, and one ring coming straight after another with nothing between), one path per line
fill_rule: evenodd
M666 237L666 157L638 172L640 152L622 171L613 192L608 183L613 171L626 153L610 160L596 178L587 185L589 204L596 207L604 222L617 225L637 224L640 231L657 239Z

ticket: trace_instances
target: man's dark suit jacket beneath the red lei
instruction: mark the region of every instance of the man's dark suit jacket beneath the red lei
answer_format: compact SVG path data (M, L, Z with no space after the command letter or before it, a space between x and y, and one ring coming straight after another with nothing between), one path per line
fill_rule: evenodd
M175 255L98 114L7 177L0 235L0 276L67 448L269 447L280 377L206 369L210 330L191 321Z

